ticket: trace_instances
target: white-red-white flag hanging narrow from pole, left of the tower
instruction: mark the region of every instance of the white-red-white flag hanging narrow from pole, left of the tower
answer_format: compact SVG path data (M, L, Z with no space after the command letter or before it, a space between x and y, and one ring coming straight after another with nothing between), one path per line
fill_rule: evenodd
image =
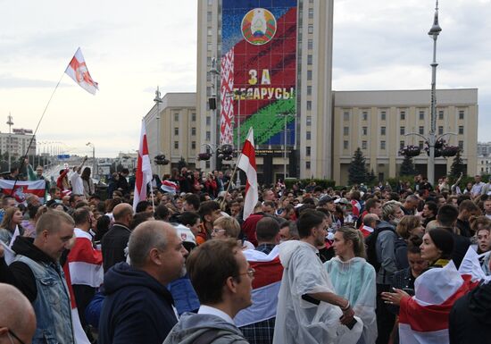
M145 122L142 122L140 134L140 148L138 149L137 174L135 175L135 197L133 197L133 209L137 210L139 201L146 200L146 185L152 181L152 165L148 155L148 144L146 143Z

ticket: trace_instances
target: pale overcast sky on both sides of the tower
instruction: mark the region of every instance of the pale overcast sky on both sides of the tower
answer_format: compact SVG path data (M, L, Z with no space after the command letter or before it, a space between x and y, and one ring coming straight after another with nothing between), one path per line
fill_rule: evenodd
M0 0L0 131L8 132L9 113L14 128L36 128L80 46L100 91L92 96L63 76L37 140L82 155L88 141L97 156L136 149L157 85L162 94L196 91L196 3ZM335 0L333 89L429 88L434 7ZM491 141L489 18L491 0L440 1L437 88L479 88L479 141Z

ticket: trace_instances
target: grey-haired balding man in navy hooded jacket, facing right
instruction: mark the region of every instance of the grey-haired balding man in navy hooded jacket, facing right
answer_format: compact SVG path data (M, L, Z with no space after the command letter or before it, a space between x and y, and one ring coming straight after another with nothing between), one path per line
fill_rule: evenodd
M186 273L187 250L170 223L146 221L129 236L130 264L114 265L104 275L100 344L162 344L178 322L169 282Z

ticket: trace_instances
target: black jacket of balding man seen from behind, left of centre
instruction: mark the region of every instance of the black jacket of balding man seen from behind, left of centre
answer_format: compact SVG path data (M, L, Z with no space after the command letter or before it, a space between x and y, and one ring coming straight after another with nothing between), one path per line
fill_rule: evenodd
M109 271L116 263L126 262L124 249L128 246L129 228L114 223L101 240L104 271Z

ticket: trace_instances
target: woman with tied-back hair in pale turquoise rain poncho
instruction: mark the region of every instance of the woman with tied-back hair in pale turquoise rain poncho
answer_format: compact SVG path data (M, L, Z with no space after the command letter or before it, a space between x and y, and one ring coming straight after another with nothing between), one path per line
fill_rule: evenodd
M378 334L375 269L365 260L362 231L341 227L334 234L333 248L336 256L324 263L324 267L336 293L348 299L354 314L363 321L362 337L358 343L374 343Z

